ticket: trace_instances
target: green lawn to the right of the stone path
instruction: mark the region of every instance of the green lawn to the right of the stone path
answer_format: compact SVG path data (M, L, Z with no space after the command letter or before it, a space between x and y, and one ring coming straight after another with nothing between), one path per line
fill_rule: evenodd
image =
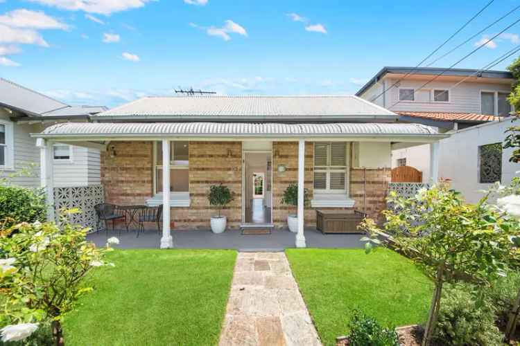
M382 325L426 320L433 285L393 251L288 249L286 254L324 345L347 334L353 309Z

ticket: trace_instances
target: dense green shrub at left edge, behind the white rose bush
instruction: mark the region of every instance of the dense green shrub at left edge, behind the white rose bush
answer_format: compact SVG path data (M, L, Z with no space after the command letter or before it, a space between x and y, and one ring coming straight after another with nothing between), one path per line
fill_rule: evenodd
M6 226L18 222L44 221L46 204L41 189L0 184L0 222Z

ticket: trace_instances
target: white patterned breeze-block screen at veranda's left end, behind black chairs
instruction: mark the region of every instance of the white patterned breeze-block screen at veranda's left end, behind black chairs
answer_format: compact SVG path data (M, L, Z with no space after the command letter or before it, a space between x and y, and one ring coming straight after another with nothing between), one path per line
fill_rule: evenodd
M71 186L69 188L54 188L55 215L59 217L61 210L79 208L78 214L73 214L70 221L83 227L96 229L97 217L94 206L105 201L103 185Z

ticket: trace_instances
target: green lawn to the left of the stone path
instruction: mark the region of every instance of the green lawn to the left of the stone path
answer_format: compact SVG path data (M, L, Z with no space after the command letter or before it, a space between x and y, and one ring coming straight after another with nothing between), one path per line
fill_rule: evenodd
M66 316L67 345L216 345L235 251L126 250Z

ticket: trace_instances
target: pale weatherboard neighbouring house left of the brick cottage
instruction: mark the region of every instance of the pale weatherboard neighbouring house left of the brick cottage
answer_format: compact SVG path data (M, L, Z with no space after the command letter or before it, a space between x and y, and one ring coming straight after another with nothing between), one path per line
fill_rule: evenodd
M0 174L26 188L40 187L40 149L32 133L60 122L88 121L106 107L70 106L24 86L0 78ZM98 149L69 143L53 145L56 187L100 183ZM16 174L29 170L29 174Z

